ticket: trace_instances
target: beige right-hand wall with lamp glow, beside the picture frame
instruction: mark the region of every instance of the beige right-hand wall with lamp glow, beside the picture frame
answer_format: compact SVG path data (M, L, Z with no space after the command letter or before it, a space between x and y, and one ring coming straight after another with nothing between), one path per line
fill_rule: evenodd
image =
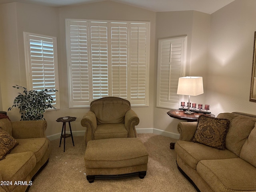
M256 114L249 102L256 1L236 0L211 15L206 100L213 114Z

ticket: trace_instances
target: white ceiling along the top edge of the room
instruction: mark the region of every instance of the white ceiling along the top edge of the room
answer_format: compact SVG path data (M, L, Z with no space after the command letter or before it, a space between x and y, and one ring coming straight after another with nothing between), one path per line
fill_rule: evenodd
M0 0L0 4L22 2L52 7L102 2L106 0ZM212 14L234 0L112 0L154 12L196 10Z

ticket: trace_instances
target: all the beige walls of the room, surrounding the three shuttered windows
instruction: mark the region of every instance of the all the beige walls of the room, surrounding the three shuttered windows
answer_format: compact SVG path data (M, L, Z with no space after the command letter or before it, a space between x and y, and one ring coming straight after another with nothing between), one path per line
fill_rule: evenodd
M65 8L0 5L0 110L12 105L17 95L13 85L26 86L23 31L57 36L60 110L46 112L46 134L59 136L61 123L56 119L61 116L77 117L72 130L84 131L80 120L88 108L68 108L65 18L77 18L150 21L150 101L149 107L133 107L140 117L137 128L155 128L178 136L180 120L170 118L168 109L156 108L158 40L174 36L188 36L185 75L203 76L204 94L191 97L192 102L210 104L210 111L216 115L232 111L255 114L256 103L249 102L255 9L254 0L236 0L211 15L196 11L156 13L111 1ZM8 115L12 120L20 119L18 109Z

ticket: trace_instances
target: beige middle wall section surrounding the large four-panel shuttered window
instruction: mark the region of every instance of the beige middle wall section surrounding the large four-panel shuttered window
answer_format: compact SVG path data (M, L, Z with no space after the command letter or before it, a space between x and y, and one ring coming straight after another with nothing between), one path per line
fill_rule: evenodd
M131 14L132 13L132 14ZM84 4L80 6L69 6L60 8L60 87L62 90L61 110L72 113L77 117L76 130L84 130L80 125L82 116L88 112L89 108L68 108L68 79L66 62L66 35L65 19L92 19L92 20L127 20L127 21L150 21L150 87L149 87L149 107L132 107L138 114L140 123L136 128L153 128L153 92L154 87L154 41L155 41L155 12L120 4L112 1Z

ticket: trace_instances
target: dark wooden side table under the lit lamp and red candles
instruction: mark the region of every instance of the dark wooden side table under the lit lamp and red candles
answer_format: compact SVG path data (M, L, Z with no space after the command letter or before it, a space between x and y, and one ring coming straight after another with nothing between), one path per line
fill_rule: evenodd
M176 119L180 119L180 120L186 120L188 122L195 122L197 121L198 117L200 115L205 115L205 116L209 116L209 117L215 117L214 114L203 114L203 113L192 113L192 114L186 114L184 113L184 110L179 110L179 109L174 109L174 110L170 110L167 112L167 114L172 117L172 118L176 118ZM174 149L175 143L171 142L170 143L170 149Z

